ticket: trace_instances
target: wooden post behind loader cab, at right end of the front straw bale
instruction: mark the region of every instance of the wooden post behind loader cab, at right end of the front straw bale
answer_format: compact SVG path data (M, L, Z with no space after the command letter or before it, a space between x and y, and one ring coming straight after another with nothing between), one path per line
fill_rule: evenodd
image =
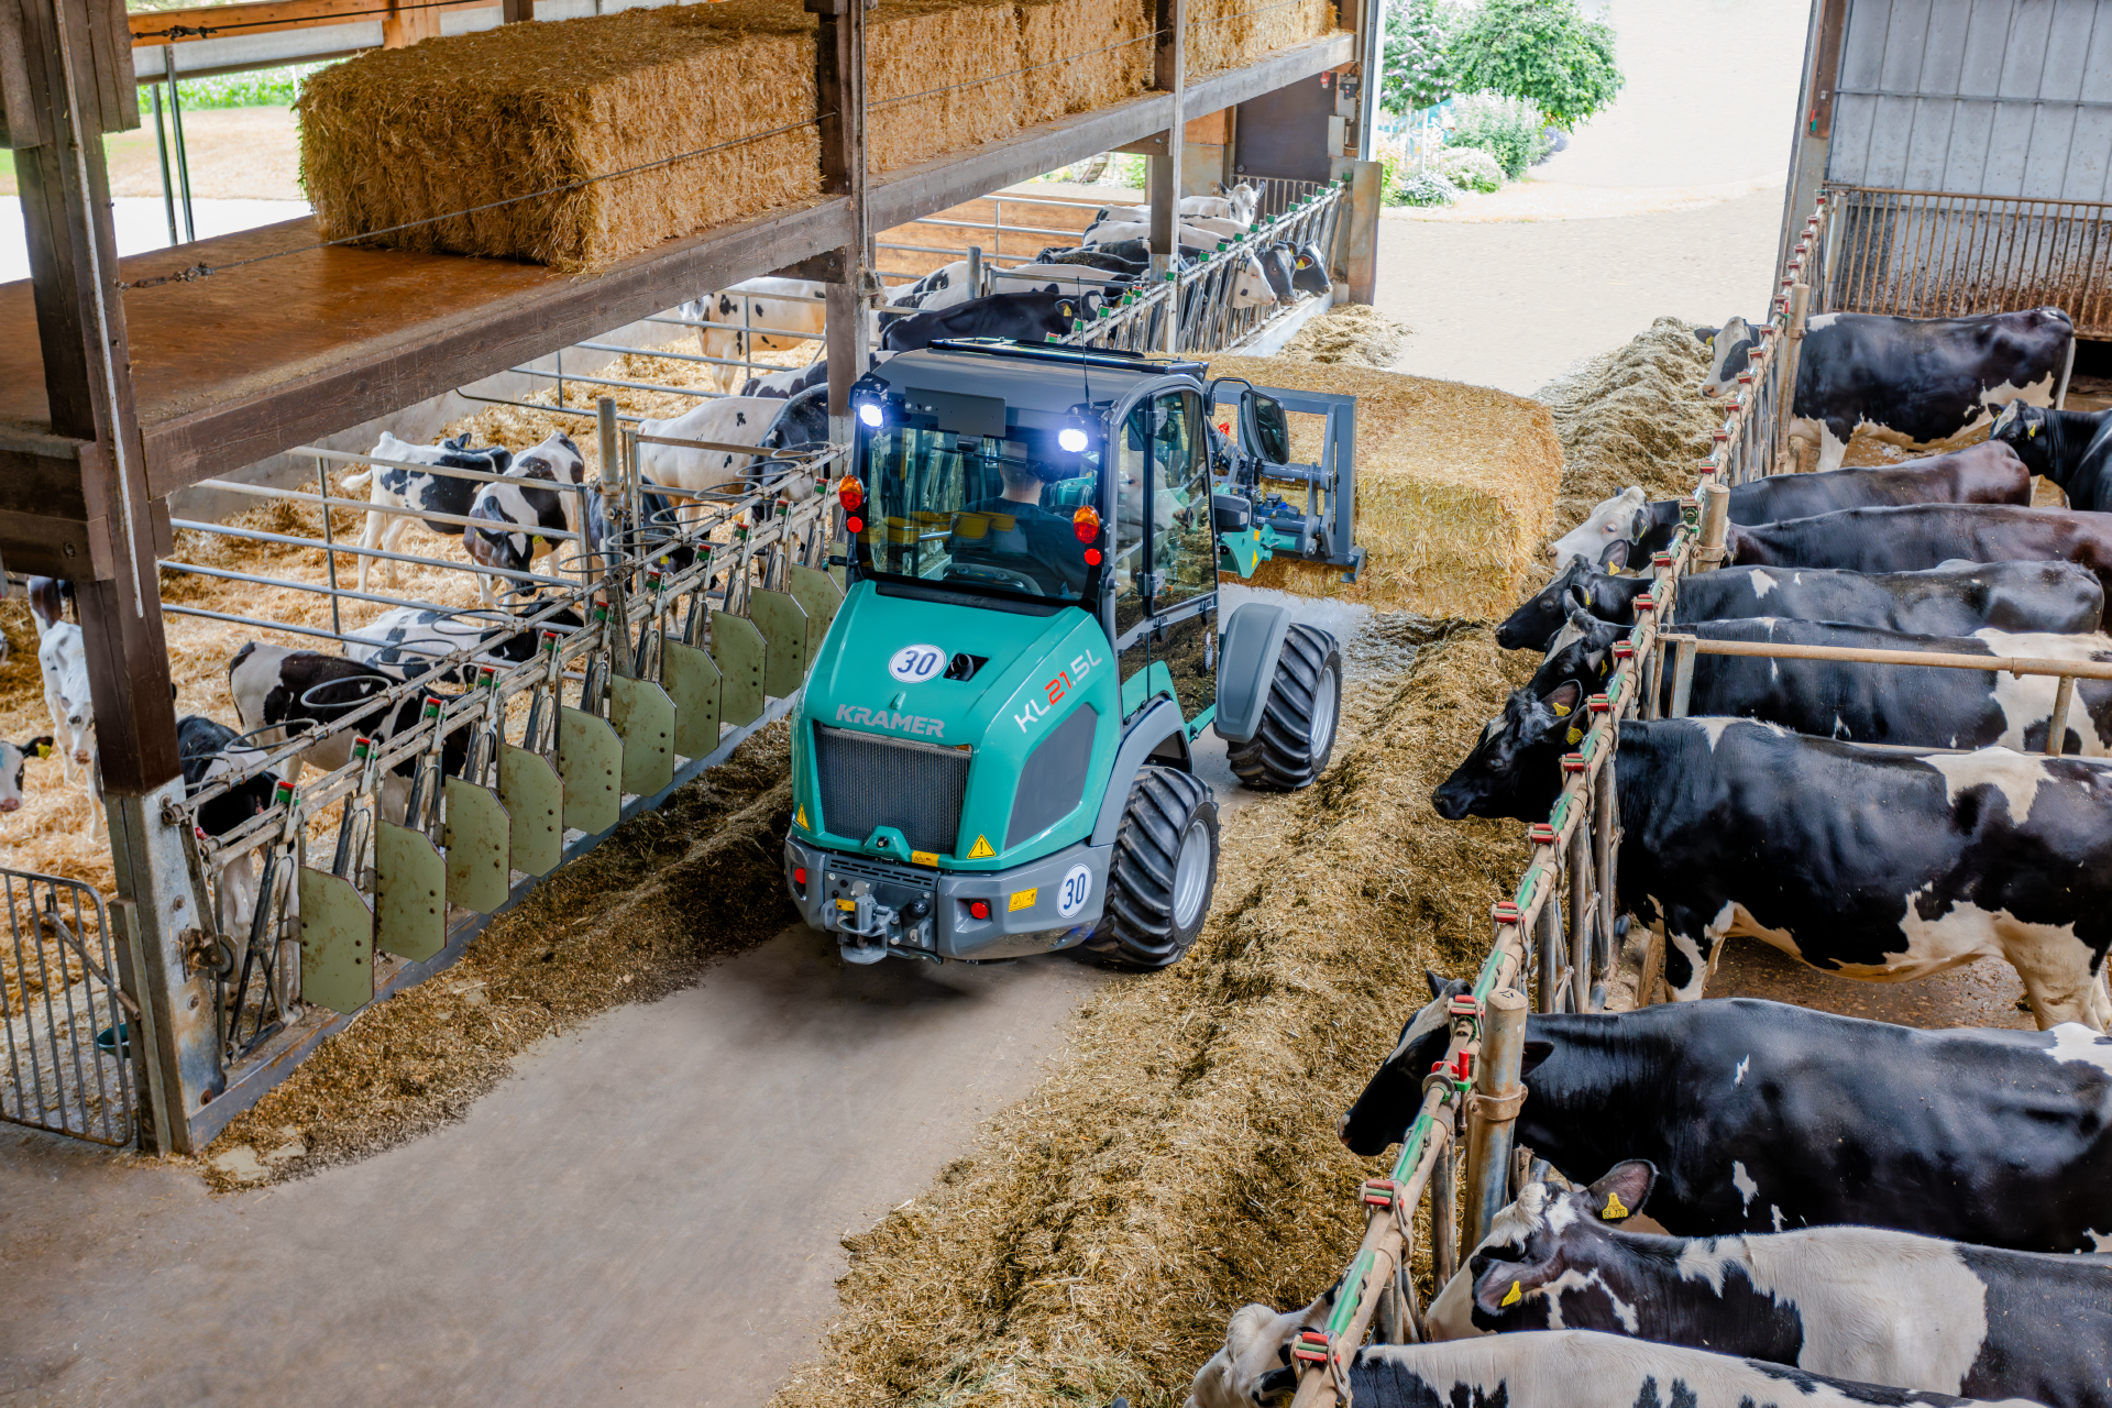
M824 355L828 357L828 437L849 443L851 384L866 374L870 355L868 312L879 281L870 268L872 228L866 213L866 4L868 0L807 0L819 15L815 40L815 106L822 118L822 190L849 196L851 243L834 251Z

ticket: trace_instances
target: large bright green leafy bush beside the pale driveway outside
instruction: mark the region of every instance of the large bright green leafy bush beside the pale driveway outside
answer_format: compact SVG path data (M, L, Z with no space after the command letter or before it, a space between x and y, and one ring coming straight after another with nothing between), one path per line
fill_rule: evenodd
M1622 84L1614 30L1576 0L1483 0L1451 61L1457 91L1531 99L1561 129L1605 110Z

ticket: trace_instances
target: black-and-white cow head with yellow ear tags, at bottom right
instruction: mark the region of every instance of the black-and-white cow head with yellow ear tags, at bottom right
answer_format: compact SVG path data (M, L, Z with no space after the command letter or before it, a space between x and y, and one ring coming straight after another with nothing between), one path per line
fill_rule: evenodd
M1468 1264L1430 1302L1430 1336L1599 1328L1590 1319L1580 1324L1580 1307L1563 1305L1565 1294L1611 1298L1607 1328L1626 1328L1635 1319L1633 1302L1622 1300L1622 1288L1609 1283L1599 1264L1620 1256L1609 1256L1614 1248L1601 1243L1611 1243L1620 1224L1643 1210L1656 1182L1656 1165L1628 1159L1588 1188L1559 1176L1519 1188L1519 1201L1495 1214Z

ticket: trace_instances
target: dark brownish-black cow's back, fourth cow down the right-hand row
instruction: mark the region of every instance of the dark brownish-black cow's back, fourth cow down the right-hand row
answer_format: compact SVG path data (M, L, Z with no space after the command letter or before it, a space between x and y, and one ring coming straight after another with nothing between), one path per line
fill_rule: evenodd
M1780 524L1732 524L1730 562L1757 568L1918 572L1945 562L2078 562L2112 591L2112 513L2017 505L1842 509Z

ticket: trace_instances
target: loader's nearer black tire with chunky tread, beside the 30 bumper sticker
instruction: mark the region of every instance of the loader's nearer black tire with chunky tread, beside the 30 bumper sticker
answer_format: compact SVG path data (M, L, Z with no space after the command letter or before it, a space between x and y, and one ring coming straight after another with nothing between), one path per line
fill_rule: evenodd
M1202 933L1214 893L1210 785L1176 768L1138 768L1107 863L1107 912L1086 948L1107 967L1164 969Z

